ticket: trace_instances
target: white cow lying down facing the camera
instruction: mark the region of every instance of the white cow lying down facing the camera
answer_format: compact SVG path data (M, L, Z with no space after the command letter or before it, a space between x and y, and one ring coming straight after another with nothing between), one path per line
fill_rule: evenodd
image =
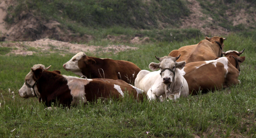
M179 58L180 56L156 57L160 63L149 64L149 69L154 72L141 70L135 79L135 87L147 92L150 100L155 100L156 97L161 100L160 96L171 100L176 100L180 96L188 97L188 83L179 70L186 65L186 62L176 62ZM159 68L159 71L155 71Z

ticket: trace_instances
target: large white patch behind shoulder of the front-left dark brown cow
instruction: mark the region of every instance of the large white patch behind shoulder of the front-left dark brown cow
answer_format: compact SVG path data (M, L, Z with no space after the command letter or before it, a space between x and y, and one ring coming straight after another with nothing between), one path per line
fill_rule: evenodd
M68 81L68 88L70 89L70 94L72 95L72 102L70 105L77 105L82 101L83 103L87 102L86 92L84 86L89 84L92 79L81 79L74 76L63 75L64 79Z

